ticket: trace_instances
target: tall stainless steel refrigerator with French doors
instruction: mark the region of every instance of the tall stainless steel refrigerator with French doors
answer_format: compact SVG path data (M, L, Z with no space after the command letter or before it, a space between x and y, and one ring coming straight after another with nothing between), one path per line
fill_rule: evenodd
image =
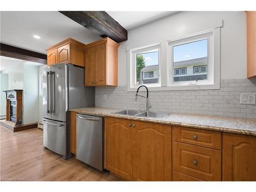
M70 153L69 109L94 106L95 89L84 87L84 74L84 68L63 63L44 71L44 147L65 159L73 156Z

